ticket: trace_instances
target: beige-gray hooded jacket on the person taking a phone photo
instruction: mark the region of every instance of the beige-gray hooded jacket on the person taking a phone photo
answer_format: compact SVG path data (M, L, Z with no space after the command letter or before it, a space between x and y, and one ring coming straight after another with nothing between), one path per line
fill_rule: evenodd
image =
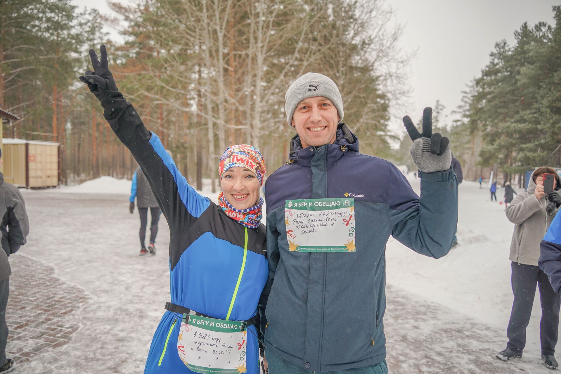
M507 207L506 213L509 221L514 223L514 233L512 234L511 256L509 260L518 264L537 266L540 258L540 242L544 238L546 231L553 221L557 209L553 215L548 216L545 207L548 205L547 196L544 195L537 200L534 195L536 183L530 177L526 191L514 197L511 204ZM556 174L557 188L561 186L561 180Z

